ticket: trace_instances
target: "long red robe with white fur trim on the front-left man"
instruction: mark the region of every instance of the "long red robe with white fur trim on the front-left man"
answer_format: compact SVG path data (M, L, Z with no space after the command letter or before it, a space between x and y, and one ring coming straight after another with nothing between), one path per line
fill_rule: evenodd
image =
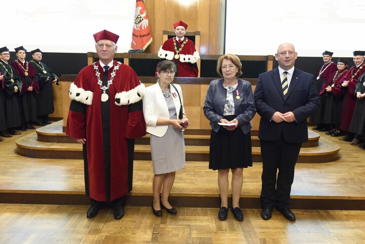
M99 62L95 64L101 79L103 69ZM118 62L114 61L114 66L117 64ZM108 70L109 80L114 66ZM72 111L71 104L66 134L71 138L86 138L87 140L86 147L84 147L84 149L86 148L84 155L85 153L87 155L87 158L84 156L85 165L87 165L85 180L88 179L88 182L85 182L86 194L97 201L113 201L131 190L129 177L131 177L133 151L128 153L128 139L141 137L146 133L141 103L144 85L139 82L131 67L121 64L116 70L113 84L109 87L111 145L109 193L106 193L106 175L104 173L101 94L102 90L97 84L93 65L84 67L75 83L71 84L69 96L86 107L85 113ZM107 199L107 195L110 197L109 199Z

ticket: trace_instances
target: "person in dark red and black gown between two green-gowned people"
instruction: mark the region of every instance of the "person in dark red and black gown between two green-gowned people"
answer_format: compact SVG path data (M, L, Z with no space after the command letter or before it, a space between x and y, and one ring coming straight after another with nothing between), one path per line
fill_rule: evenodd
M36 94L38 94L38 76L32 65L25 61L26 49L21 46L15 48L18 59L12 62L12 66L22 81L20 93L20 108L22 113L21 130L35 129L30 122L37 122Z

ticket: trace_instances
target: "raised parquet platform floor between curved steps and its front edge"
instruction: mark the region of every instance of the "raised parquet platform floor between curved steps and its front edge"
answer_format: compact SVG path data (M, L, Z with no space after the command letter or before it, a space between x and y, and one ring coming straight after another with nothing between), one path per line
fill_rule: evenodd
M23 132L22 135L32 132L34 130ZM364 200L365 151L339 141L338 137L319 133L341 147L339 159L330 163L297 164L292 198L305 196L309 199ZM84 194L82 160L22 157L16 153L15 141L19 136L4 138L0 143L0 193ZM260 195L261 170L261 163L254 163L253 167L244 169L242 197ZM176 173L171 196L204 194L218 197L216 175L216 171L208 169L207 162L188 161L186 167ZM131 195L152 196L152 178L152 162L135 161Z

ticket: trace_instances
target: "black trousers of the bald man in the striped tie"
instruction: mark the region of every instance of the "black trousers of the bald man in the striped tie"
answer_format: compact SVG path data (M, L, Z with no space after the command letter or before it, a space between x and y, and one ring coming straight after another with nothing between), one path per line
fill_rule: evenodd
M263 159L262 207L289 207L294 169L302 143L288 143L281 135L277 141L260 140L260 144Z

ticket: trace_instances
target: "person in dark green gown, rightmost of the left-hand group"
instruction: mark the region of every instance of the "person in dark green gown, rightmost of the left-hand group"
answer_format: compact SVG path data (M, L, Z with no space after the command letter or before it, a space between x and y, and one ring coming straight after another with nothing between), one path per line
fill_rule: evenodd
M31 51L33 60L29 63L35 68L38 73L39 94L37 97L37 114L38 125L50 124L48 121L48 115L54 111L53 107L53 88L55 83L58 85L58 77L53 73L52 69L48 67L44 62L41 62L43 53L40 49Z

